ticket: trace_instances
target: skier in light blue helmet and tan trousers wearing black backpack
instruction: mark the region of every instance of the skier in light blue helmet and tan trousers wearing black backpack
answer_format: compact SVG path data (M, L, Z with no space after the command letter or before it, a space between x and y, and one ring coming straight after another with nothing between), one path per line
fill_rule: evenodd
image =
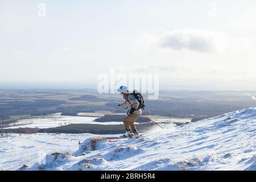
M126 86L120 86L117 92L119 92L125 100L125 102L119 104L118 107L129 108L127 117L123 120L126 130L126 134L124 134L123 137L140 137L134 122L141 116L142 109L144 109L144 101L141 93L137 90L130 93Z

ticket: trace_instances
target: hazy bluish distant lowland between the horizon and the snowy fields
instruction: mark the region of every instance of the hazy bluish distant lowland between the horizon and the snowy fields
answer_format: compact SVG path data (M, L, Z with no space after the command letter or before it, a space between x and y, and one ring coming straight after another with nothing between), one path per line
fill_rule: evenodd
M256 105L256 92L160 91L158 100L147 100L147 115L172 118L209 118ZM118 94L98 94L92 90L0 90L0 123L16 122L19 116L38 117L53 113L125 113L117 107L123 99ZM13 116L18 116L15 118Z

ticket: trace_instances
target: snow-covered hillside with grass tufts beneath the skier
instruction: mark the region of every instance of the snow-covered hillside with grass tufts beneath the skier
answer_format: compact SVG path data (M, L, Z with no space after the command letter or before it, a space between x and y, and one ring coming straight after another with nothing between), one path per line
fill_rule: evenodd
M26 164L20 169L256 170L256 107L183 126L163 127L166 129L156 126L148 131L144 139L105 140L106 135L91 134L2 138L19 144L9 151L0 143L0 169L17 169L18 164ZM81 138L85 140L78 145ZM38 162L32 151L39 150L47 155Z

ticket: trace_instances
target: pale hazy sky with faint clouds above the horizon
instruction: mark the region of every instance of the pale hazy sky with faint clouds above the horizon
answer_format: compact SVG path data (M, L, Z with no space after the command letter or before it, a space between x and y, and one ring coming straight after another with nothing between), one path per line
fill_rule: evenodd
M250 0L0 0L0 88L97 88L114 69L157 73L160 90L256 90L255 32Z

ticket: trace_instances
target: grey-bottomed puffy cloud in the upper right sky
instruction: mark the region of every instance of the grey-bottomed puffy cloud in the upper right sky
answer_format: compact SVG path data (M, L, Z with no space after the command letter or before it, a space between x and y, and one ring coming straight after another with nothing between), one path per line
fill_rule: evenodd
M200 52L216 52L225 45L225 33L185 28L166 32L160 39L160 47L175 50L189 49Z

